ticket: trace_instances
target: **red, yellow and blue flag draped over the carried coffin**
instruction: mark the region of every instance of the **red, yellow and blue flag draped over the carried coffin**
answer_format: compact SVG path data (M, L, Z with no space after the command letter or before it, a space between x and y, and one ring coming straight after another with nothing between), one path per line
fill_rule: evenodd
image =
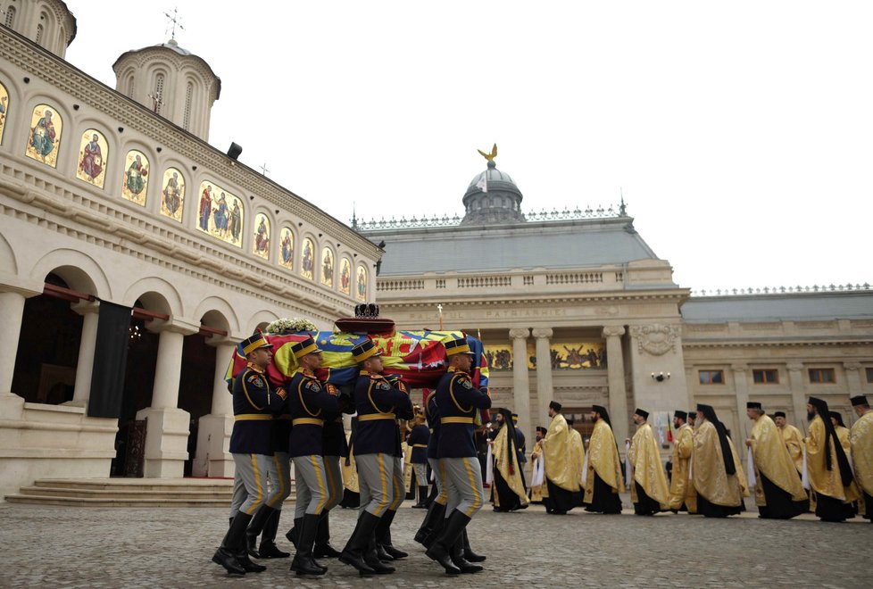
M488 361L482 342L461 331L395 331L392 334L360 335L330 331L301 331L293 334L264 335L273 345L273 361L267 367L267 376L273 386L282 386L294 374L297 362L291 353L291 345L312 336L323 351L318 377L332 385L343 388L352 386L358 375L358 366L352 356L352 348L365 338L370 338L382 352L385 374L396 374L410 388L433 388L448 367L443 342L467 337L470 351L475 354L472 369L473 386L488 386ZM228 366L228 384L245 369L245 356L237 345ZM487 412L484 419L488 419Z

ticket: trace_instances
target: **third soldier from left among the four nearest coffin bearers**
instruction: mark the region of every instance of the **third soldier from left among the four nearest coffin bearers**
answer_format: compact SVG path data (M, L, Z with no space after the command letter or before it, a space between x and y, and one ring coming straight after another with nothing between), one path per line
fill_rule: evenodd
M358 465L363 509L339 560L357 568L362 575L392 573L395 568L378 558L376 533L381 518L394 517L389 508L403 501L403 469L400 468L403 454L397 416L411 416L412 402L403 389L382 376L381 353L372 340L366 339L354 346L352 354L361 369L354 385L354 404L358 411L354 460ZM398 489L399 499L395 498ZM387 524L390 525L390 519ZM384 534L385 529L383 525L380 532Z

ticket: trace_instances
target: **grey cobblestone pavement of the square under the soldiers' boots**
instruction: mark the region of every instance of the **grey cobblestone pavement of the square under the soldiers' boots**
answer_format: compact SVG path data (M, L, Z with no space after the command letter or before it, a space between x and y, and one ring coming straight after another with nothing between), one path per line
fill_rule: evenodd
M753 513L727 520L661 514L603 516L574 510L549 516L540 506L516 513L481 510L470 525L474 550L488 559L478 575L448 577L412 541L424 510L406 502L395 518L395 546L410 552L385 577L358 577L337 560L324 577L295 577L288 559L262 561L261 574L229 577L212 563L228 527L227 510L72 509L0 505L4 587L439 587L772 586L869 587L866 555L873 525L819 522L809 515L769 521ZM629 504L628 499L625 505ZM287 509L288 506L286 506ZM287 514L291 511L287 510ZM335 510L330 527L339 548L351 534L353 510ZM279 526L279 546L292 549ZM293 549L291 550L293 552Z

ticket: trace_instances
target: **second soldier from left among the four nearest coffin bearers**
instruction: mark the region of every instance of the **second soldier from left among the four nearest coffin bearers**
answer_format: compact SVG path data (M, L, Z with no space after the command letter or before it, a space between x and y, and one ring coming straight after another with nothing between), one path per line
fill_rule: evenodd
M325 415L339 409L338 390L336 386L322 385L315 376L315 370L321 366L321 350L312 337L292 344L291 353L300 365L288 386L291 413L288 448L297 481L294 518L299 530L291 570L297 575L323 575L328 568L315 561L312 548L321 512L330 501L322 460L322 434Z

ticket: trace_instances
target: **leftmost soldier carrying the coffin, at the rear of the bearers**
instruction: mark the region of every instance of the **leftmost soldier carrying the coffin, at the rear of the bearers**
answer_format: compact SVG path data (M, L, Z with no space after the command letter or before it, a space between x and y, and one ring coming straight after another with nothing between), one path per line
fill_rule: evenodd
M274 389L267 380L265 370L272 360L271 344L261 333L249 337L240 344L248 365L233 383L233 432L230 435L230 452L236 466L236 476L242 481L247 494L230 529L212 561L226 568L229 573L245 574L261 572L266 567L254 564L248 558L245 545L245 530L254 513L266 500L267 473L273 460L271 439L273 412L281 411L287 394L284 389Z

